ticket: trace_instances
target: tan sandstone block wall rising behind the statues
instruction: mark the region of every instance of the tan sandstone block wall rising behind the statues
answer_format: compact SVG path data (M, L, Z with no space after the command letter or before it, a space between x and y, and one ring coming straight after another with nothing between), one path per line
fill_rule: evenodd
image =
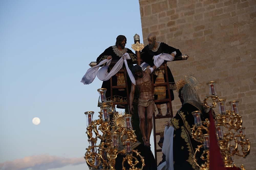
M216 81L221 98L239 100L239 112L251 142L246 159L235 163L256 169L256 1L255 0L139 0L144 44L149 33L188 54L187 61L169 62L175 81L194 72L208 94L208 81ZM175 93L173 111L180 108ZM165 106L162 106L164 109ZM215 109L217 112L217 109ZM165 111L163 110L163 113ZM156 122L163 130L166 120ZM159 138L158 138L159 139ZM161 154L158 154L158 162Z

